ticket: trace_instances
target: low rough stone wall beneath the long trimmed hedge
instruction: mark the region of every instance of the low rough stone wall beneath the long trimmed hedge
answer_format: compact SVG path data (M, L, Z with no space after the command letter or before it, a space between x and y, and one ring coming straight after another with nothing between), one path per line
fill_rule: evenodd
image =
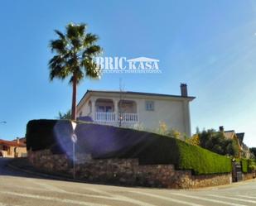
M51 151L29 152L36 168L54 174L72 176L72 161ZM93 160L77 155L76 178L103 184L137 185L159 188L195 189L231 183L231 174L192 175L191 170L175 170L173 165L139 165L137 159Z

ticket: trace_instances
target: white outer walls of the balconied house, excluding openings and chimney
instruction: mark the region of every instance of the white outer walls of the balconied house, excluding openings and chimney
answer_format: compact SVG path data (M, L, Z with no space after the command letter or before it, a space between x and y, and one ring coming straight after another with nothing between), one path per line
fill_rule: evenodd
M104 93L104 92L89 92L80 101L77 107L77 117L89 116L95 122L95 113L97 108L95 103L97 99L110 99L114 103L114 111L116 117L118 113L118 102L120 99L129 100L136 103L136 113L138 114L138 121L136 122L122 122L122 127L132 127L134 124L141 124L142 127L152 130L159 127L159 122L165 122L168 129L176 129L181 133L186 133L191 136L191 118L189 102L191 98L183 97L165 97L156 95L138 95L138 94L118 94L118 93ZM89 106L89 102L92 106ZM153 103L153 109L148 110L146 103ZM98 104L99 105L99 104ZM133 110L134 111L134 110ZM125 112L124 112L125 113ZM130 111L129 111L130 113ZM134 119L133 119L134 120ZM137 120L137 119L136 119ZM118 120L111 122L98 122L118 126Z

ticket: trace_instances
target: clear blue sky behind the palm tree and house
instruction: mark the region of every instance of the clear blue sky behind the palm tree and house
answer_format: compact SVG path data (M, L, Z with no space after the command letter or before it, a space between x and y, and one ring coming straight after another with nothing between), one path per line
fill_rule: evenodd
M224 126L256 146L256 2L250 0L2 0L0 138L24 137L31 119L55 118L71 104L68 81L49 81L55 29L85 22L104 56L160 60L162 74L104 74L87 89L180 94L191 102L191 130Z

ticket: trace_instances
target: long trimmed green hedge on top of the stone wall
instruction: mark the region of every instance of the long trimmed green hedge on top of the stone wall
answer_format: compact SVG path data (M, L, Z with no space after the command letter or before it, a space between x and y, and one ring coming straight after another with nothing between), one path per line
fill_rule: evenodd
M69 121L32 120L27 124L27 149L68 153L71 134ZM94 159L138 158L142 165L172 164L176 169L192 170L195 175L232 170L231 160L225 156L156 133L79 122L75 134L76 151L89 153Z

